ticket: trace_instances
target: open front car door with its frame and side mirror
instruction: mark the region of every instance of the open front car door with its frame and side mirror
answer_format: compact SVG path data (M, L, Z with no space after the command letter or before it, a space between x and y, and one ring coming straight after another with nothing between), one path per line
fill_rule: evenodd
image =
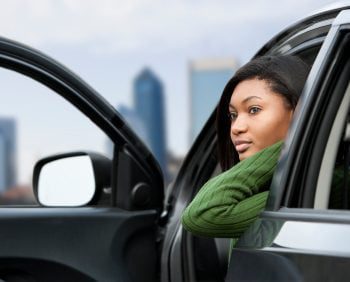
M0 38L0 67L63 97L114 148L110 158L67 148L37 163L34 187L42 205L0 208L0 279L159 280L163 177L149 150L99 94L42 53ZM21 94L24 101L28 93ZM45 119L50 108L39 114Z

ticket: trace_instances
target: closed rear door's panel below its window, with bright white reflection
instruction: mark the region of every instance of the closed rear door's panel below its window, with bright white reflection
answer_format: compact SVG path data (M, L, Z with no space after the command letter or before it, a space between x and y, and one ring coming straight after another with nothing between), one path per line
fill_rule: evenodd
M227 281L341 281L350 275L349 235L341 213L266 212L232 251Z

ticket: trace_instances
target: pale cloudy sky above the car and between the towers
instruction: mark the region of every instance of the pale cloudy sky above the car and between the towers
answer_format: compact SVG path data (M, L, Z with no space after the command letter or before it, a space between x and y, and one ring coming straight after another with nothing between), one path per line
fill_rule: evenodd
M115 107L132 105L132 81L150 67L165 90L168 148L184 155L189 62L234 58L243 64L278 32L333 2L0 0L0 35L63 63Z

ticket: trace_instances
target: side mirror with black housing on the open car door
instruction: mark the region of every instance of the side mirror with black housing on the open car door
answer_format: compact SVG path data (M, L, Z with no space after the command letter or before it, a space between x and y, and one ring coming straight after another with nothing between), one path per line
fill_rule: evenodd
M33 189L41 205L84 206L98 201L111 184L110 159L90 152L50 156L34 167Z

